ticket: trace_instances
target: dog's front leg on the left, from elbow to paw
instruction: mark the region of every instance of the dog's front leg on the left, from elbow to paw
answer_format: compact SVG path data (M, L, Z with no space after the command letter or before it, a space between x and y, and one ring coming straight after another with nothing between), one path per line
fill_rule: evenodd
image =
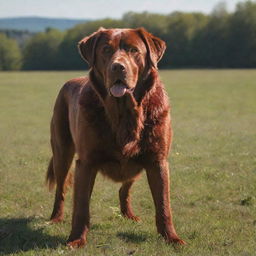
M76 161L72 230L67 241L70 247L81 247L86 243L90 225L89 203L95 177L96 171L85 161Z

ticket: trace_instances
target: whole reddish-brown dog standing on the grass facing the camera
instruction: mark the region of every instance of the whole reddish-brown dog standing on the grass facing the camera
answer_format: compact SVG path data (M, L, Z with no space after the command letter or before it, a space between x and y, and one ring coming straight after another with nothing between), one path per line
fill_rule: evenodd
M99 29L79 43L89 77L61 89L51 122L47 180L57 183L51 220L61 221L68 170L77 153L74 209L68 245L86 243L89 202L98 171L116 182L123 216L139 220L130 189L143 169L152 192L158 232L167 242L184 244L174 229L167 155L171 143L169 103L157 63L165 43L140 29Z

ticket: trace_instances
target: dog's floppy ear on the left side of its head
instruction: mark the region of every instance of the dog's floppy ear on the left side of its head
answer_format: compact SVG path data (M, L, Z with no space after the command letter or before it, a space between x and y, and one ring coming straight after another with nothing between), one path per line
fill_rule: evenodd
M102 31L105 29L100 27L98 31L92 33L90 36L83 38L78 43L78 50L82 58L89 64L90 67L93 67L95 63L95 50L97 43L99 41Z

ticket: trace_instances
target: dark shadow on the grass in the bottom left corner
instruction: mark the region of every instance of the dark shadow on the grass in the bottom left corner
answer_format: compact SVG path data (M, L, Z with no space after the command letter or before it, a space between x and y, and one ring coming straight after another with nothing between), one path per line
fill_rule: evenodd
M44 227L35 227L35 218L0 218L0 255L57 248L65 241L44 232Z

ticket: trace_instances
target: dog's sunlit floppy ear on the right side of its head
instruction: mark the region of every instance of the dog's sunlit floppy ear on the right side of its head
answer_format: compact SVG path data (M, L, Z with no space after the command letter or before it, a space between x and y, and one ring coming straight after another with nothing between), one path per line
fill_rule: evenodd
M160 38L150 34L144 28L139 28L137 31L146 45L149 63L153 67L157 68L157 63L163 57L166 49L165 42Z

